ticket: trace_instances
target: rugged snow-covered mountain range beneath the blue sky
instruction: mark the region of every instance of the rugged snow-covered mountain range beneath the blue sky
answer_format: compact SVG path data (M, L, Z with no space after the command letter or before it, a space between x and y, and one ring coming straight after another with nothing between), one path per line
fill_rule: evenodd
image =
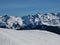
M37 26L57 26L60 27L60 13L46 13L28 15L23 17L15 16L0 16L0 27L12 28L12 29L23 29L23 28L35 28Z

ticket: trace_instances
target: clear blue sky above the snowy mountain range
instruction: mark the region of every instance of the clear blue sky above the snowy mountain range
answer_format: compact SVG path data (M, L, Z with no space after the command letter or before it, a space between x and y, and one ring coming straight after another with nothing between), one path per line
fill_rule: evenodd
M0 0L0 15L25 16L60 12L60 0Z

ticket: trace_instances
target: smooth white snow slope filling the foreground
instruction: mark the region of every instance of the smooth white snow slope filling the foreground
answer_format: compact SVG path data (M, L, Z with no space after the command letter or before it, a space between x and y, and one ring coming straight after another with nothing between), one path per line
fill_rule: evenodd
M60 35L43 30L0 28L0 45L60 45Z

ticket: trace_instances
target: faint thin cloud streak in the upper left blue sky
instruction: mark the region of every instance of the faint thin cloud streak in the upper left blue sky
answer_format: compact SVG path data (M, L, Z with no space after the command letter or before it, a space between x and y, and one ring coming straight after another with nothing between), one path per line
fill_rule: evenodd
M15 8L28 8L34 7L34 4L0 4L0 8L15 9Z

